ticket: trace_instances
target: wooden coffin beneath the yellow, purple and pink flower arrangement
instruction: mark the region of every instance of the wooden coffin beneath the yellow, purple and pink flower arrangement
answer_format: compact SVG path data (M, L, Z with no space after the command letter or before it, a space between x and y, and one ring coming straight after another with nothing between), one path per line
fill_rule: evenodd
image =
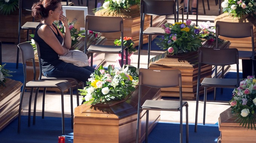
M230 42L225 41L219 44L219 48L229 48ZM215 42L204 42L203 46L214 48ZM212 77L212 66L201 66L201 78L203 81L205 77ZM189 52L183 55L167 56L163 53L151 58L149 62L149 69L179 69L181 71L182 81L182 96L184 99L195 99L197 96L197 78L198 78L198 52ZM229 71L229 67L225 68L225 73ZM208 92L212 88L207 89ZM199 94L203 94L204 88L200 88ZM178 87L163 88L161 96L179 97Z

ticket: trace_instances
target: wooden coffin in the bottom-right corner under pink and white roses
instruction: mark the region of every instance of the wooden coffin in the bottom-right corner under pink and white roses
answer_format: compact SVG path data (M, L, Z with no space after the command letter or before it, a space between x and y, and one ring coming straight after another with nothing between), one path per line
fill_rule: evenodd
M256 140L256 130L251 130L235 122L236 117L231 108L219 114L219 131L221 143L253 143Z

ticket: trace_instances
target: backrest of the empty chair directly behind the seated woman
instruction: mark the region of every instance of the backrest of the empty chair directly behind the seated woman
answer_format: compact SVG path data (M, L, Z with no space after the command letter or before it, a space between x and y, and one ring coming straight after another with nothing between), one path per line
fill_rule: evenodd
M23 72L24 72L23 84L25 84L25 83L27 83L26 61L32 60L33 70L34 70L34 80L36 78L34 48L29 42L24 42L24 43L18 44L18 48L20 49L20 53L21 53L21 61L23 64Z

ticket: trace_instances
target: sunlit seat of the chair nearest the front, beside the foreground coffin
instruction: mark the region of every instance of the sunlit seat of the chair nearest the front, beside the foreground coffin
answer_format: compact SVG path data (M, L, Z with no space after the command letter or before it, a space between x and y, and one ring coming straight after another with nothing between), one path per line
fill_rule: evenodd
M182 101L182 107L188 106L186 101ZM180 111L180 102L166 100L146 100L142 105L142 110Z

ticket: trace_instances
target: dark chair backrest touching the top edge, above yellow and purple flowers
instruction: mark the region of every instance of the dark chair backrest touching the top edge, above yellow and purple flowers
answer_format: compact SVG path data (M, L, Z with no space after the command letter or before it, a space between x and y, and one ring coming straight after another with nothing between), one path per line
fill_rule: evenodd
M174 0L141 0L140 13L148 15L175 15L176 4Z

